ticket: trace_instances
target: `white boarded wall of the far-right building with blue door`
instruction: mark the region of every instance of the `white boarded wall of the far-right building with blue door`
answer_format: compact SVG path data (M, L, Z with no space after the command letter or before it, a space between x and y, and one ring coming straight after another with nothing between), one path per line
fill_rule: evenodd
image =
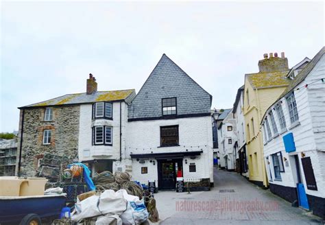
M280 123L278 117L274 111L274 117L276 119L276 125L280 132L280 135L274 136L272 125L272 137L268 141L264 141L264 156L269 156L269 166L271 167L271 173L273 180L270 183L276 185L282 185L287 187L296 187L296 172L294 168L294 161L291 157L298 154L300 160L300 171L302 176L302 182L306 189L306 179L304 177L304 170L301 164L301 152L305 154L305 157L311 157L311 163L313 165L313 171L315 180L317 182L318 191L306 189L306 193L312 196L318 196L325 198L325 84L320 81L325 77L325 58L322 56L320 61L315 65L313 70L309 73L307 78L297 87L300 87L298 91L294 91L296 97L296 104L298 108L299 125L292 126L289 119L289 111L287 108L287 101L285 97L280 99L282 101L282 110L285 115L287 123L287 129L280 132ZM315 82L311 84L311 82ZM307 88L304 86L309 84ZM277 102L276 102L277 103ZM273 109L275 104L269 108ZM269 111L269 110L268 110ZM285 152L285 146L282 141L282 137L289 132L293 133L293 137L296 144L296 152ZM263 136L265 136L263 130ZM283 157L287 158L288 162L284 162L285 172L281 174L281 181L274 180L273 161L270 155L276 152L282 152ZM267 161L265 162L267 163ZM287 165L286 165L287 164ZM270 177L269 169L267 169L267 175Z

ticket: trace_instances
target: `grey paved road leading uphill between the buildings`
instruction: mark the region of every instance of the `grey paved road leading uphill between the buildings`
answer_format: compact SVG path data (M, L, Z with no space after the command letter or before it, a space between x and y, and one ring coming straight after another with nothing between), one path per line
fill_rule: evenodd
M303 209L269 190L256 187L237 173L215 169L212 191L155 196L162 224L322 224Z

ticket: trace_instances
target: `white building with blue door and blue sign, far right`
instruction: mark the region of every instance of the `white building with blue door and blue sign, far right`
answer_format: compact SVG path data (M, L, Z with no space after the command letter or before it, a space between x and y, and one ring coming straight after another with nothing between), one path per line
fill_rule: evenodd
M325 218L325 47L300 64L261 121L264 159L273 193Z

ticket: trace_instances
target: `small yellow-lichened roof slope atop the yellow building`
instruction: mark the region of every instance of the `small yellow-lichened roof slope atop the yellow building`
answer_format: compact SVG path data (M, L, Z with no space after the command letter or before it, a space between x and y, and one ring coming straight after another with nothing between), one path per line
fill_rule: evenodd
M287 86L290 79L287 78L289 71L276 71L276 72L260 72L248 73L245 76L253 88L264 88L272 86Z

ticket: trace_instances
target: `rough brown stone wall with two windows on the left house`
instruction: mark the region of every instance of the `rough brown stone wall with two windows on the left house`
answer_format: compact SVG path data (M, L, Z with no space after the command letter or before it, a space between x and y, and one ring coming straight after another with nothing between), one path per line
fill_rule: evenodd
M23 145L21 152L21 176L35 176L38 159L51 153L77 158L80 106L53 107L53 120L44 121L45 108L25 109ZM21 112L22 115L22 112ZM21 121L19 124L21 137ZM43 145L43 130L50 129L51 144ZM20 150L20 139L18 152ZM19 156L17 158L17 164Z

